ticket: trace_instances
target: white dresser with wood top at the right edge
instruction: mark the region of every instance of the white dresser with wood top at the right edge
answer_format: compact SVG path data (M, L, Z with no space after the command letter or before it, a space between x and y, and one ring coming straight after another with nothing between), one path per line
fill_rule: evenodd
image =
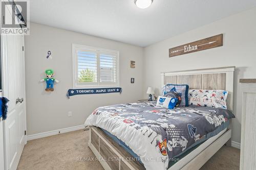
M242 130L240 169L256 169L256 79L240 79L242 104Z

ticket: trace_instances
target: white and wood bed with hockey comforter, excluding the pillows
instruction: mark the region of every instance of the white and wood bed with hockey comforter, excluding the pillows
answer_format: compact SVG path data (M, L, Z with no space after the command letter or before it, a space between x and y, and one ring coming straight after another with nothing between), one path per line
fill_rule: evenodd
M232 110L233 71L234 67L221 67L164 72L161 73L161 85L188 84L190 89L226 90L228 91L227 109ZM231 144L231 113L228 110L216 109L176 108L170 113L150 102L100 107L89 116L86 122L86 125L90 126L89 147L104 169L199 169L225 143ZM134 115L130 115L131 112ZM176 113L182 113L182 115ZM177 129L176 127L181 125L179 122L166 122L167 120L163 117L172 116L172 114L176 115L175 117L193 115L194 119L201 121L198 122L197 127L203 125L205 132L200 132L198 128L196 133L197 129L191 125L187 128L188 130L182 126ZM197 114L201 117L195 118ZM218 120L217 124L222 126L206 125L202 115L207 119L212 117ZM155 116L158 120L157 124L147 116ZM173 118L174 116L172 121ZM185 121L186 119L188 117L185 117ZM184 121L184 117L182 120ZM167 133L167 137L163 139L162 132L158 133L159 130L154 129L159 125L174 131ZM177 139L179 147L174 147L177 141L172 142L169 138L175 138L175 136L168 136L168 134L185 133L184 131L191 132L190 135L194 141L179 137L179 140ZM148 141L151 141L151 144ZM157 149L158 152L155 152L154 150Z

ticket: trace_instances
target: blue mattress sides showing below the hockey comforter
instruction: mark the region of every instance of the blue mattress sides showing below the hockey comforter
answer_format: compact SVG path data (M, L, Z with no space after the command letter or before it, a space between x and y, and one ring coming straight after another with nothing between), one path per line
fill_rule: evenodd
M174 164L176 164L178 161L177 160L181 160L184 156L188 155L190 152L194 151L195 149L197 149L199 147L199 145L201 145L203 142L205 142L206 140L209 140L209 143L212 143L215 139L214 136L220 136L222 135L226 129L229 126L229 120L225 123L223 123L221 126L219 126L216 130L207 133L205 136L203 136L201 139L199 139L197 142L195 142L194 144L192 144L190 147L188 147L186 150L184 150L183 152L181 152L179 155L175 156L173 159L171 159L169 161L169 165L168 168L173 166ZM116 143L118 143L125 151L127 151L128 153L130 153L134 158L136 158L136 160L138 160L140 163L140 157L135 154L133 152L133 150L131 148L129 148L122 140L118 139L115 135L112 135L110 132L101 129L106 135L108 135L109 137L111 137ZM213 140L213 141L212 141ZM206 145L207 147L208 145ZM205 149L205 148L204 148ZM142 163L143 164L143 163Z

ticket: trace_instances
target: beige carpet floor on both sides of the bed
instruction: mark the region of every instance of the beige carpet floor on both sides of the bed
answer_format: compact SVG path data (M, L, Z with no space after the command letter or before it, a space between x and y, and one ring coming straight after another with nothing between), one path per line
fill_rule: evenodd
M88 132L79 130L28 141L17 169L103 169L87 146L88 135ZM239 169L239 155L240 150L224 146L201 170ZM84 161L83 158L90 158L91 161Z

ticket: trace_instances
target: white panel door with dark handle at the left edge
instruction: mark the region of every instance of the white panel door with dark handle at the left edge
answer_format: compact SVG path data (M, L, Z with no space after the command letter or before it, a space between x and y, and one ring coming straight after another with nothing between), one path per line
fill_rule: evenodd
M27 142L25 102L24 36L2 37L3 96L8 98L8 114L4 121L5 168L16 169Z

